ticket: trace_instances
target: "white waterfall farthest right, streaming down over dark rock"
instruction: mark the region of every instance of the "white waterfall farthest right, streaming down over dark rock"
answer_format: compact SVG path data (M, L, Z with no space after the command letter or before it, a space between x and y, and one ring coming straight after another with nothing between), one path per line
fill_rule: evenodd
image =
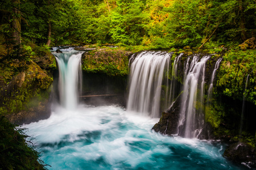
M179 118L179 135L185 138L196 138L204 125L204 72L205 63L210 56L193 56L188 67L185 67L184 87L181 96Z

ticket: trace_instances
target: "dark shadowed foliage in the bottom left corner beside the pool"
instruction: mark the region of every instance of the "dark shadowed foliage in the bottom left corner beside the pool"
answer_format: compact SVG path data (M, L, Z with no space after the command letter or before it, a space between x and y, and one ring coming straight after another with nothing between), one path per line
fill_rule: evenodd
M0 169L45 169L27 138L24 129L15 128L0 116Z

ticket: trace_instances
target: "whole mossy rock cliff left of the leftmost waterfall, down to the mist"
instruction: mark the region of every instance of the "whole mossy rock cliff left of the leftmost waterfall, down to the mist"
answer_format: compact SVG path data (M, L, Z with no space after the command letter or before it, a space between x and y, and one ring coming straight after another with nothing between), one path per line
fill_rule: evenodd
M30 59L4 61L0 66L0 114L13 124L48 117L55 57L48 51L35 50Z

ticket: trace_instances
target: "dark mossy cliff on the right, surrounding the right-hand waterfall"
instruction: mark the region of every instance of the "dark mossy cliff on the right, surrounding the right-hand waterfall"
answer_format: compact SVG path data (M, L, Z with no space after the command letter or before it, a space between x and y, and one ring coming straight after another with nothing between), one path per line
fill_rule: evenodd
M184 54L177 64L176 80L184 86L184 63L189 54ZM207 91L214 65L218 58L222 58L213 82L213 94L209 100ZM205 95L203 103L204 127L198 137L200 139L223 139L230 145L225 156L234 162L245 163L255 168L256 143L256 58L255 52L229 51L221 55L213 55L205 66ZM159 122L153 130L167 135L177 134L183 136L184 126L178 125L181 110L182 89L171 107L162 113ZM195 104L197 111L202 107ZM197 113L197 112L196 112ZM181 131L181 133L180 133ZM240 147L237 146L240 141ZM245 152L246 151L246 152ZM241 154L245 152L246 154Z

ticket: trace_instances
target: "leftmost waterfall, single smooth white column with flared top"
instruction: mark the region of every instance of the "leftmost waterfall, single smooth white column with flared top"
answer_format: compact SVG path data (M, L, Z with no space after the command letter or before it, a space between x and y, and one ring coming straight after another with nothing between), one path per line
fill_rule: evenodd
M59 95L61 106L75 109L81 92L81 56L83 52L61 49L63 53L52 54L59 66Z

